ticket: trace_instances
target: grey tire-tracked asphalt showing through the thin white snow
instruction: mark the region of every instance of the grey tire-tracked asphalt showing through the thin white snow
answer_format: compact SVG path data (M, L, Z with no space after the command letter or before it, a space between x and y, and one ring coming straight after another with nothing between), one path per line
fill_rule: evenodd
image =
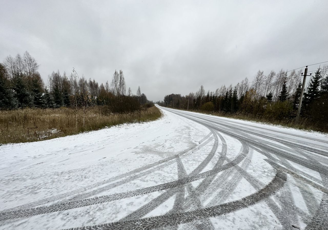
M19 218L62 212L163 191L117 222L72 229L215 229L217 226L213 225L211 218L229 213L233 215L234 212L247 210L259 202L267 205L280 223L281 229L328 229L328 140L306 134L294 135L288 130L271 129L269 126L261 127L232 119L161 109L197 122L207 127L210 133L199 141L199 145L181 151L173 157L89 187L4 210L0 212L0 226ZM234 158L227 155L230 146L227 144L226 136L233 138L241 146ZM213 142L212 149L204 153L207 154L206 157L194 170L187 173L181 159L192 156L195 150L201 150L210 142ZM274 171L274 176L268 183L256 178L249 171L254 151L262 154L265 162ZM213 167L206 169L213 161ZM98 195L174 164L177 166L178 175L175 181L111 195ZM301 167L312 170L320 177L307 173ZM201 182L197 186L192 186L191 182L199 180ZM247 181L255 192L227 202L242 180ZM297 205L300 201L293 196L296 189L301 194L307 211ZM314 191L321 193L321 200L318 200L318 195ZM175 197L175 200L170 211L164 215L145 218L171 197ZM46 205L55 201L59 202ZM224 226L222 229L225 229Z

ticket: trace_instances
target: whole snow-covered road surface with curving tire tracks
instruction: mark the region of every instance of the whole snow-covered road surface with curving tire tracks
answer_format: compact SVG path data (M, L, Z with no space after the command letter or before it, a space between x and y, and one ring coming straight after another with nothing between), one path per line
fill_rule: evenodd
M0 229L328 229L328 137L163 117L0 146Z

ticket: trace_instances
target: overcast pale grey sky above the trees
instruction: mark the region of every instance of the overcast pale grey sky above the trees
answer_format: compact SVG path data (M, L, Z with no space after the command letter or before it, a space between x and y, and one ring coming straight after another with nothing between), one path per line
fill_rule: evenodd
M0 62L27 50L45 82L122 69L134 94L163 100L328 61L327 0L0 1Z

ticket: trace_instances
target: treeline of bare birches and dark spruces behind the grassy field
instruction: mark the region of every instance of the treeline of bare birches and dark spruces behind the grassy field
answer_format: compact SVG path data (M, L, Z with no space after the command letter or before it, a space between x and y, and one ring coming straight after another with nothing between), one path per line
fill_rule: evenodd
M43 82L38 63L26 51L23 56L8 56L0 63L0 109L17 108L59 108L62 106L82 110L88 107L104 106L104 113L127 113L150 107L152 102L141 93L132 94L126 83L123 71L116 71L112 81L100 85L91 78L79 77L75 69L68 76L52 72L48 76L48 85Z

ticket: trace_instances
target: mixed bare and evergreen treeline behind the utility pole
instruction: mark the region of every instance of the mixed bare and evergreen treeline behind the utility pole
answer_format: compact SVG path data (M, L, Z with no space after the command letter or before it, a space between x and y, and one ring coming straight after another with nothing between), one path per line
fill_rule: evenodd
M301 93L301 73L295 70L278 73L271 71L265 76L259 70L252 82L245 78L236 86L225 85L215 91L207 91L203 86L195 93L181 96L170 94L161 106L178 109L203 110L222 114L239 114L266 118L266 120L295 121ZM315 125L318 130L328 130L328 65L312 73L305 87L302 101L301 120Z

